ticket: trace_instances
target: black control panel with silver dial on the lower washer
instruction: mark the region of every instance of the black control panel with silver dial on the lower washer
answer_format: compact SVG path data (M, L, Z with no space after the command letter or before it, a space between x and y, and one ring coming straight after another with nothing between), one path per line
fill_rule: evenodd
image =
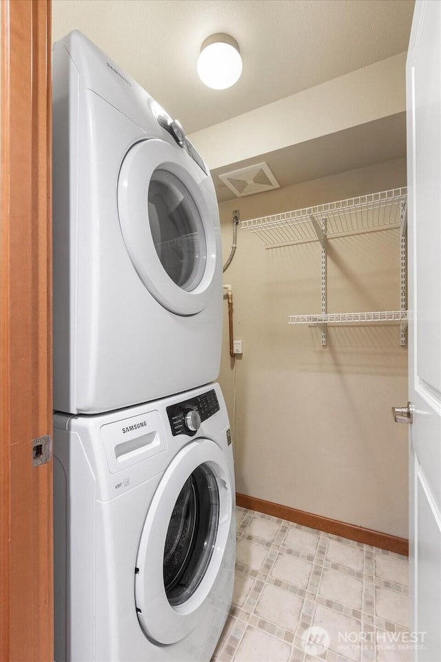
M201 393L195 398L178 402L167 407L172 434L188 434L193 437L201 427L201 423L216 414L220 409L214 389Z

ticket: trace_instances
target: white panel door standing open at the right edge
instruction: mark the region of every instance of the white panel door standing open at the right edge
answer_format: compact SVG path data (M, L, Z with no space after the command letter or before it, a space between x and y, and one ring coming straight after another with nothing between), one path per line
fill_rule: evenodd
M441 660L441 3L416 3L407 57L411 630Z

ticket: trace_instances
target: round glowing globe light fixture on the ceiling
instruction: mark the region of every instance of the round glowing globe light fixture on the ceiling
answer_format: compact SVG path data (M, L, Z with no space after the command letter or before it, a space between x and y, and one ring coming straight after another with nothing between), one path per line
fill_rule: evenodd
M198 57L198 75L213 90L226 90L237 83L242 73L242 58L236 39L218 32L205 39Z

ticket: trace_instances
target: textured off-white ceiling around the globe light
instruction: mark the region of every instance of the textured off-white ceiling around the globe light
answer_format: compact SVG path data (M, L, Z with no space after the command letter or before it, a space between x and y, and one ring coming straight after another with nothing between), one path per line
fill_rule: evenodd
M54 41L79 29L191 133L407 50L413 0L53 0ZM203 40L243 55L229 90L196 74Z

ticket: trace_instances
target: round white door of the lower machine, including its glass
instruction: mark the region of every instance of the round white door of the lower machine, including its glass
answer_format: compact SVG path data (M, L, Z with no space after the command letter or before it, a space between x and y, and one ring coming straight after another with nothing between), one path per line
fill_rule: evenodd
M223 560L232 503L227 463L214 441L192 441L165 471L135 570L139 623L156 643L181 641L201 619Z

